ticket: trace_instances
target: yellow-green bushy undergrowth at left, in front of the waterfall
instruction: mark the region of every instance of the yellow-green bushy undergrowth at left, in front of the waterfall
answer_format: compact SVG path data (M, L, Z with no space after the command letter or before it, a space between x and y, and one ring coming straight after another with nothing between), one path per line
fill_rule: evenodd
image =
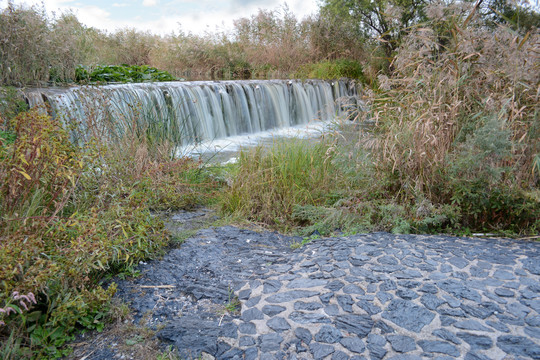
M0 354L66 355L77 329L101 329L121 272L160 254L169 236L150 209L186 208L217 184L145 137L69 141L58 119L21 113L0 142ZM134 131L134 134L137 132ZM7 134L7 135L6 135ZM20 303L20 294L37 304ZM28 309L26 309L26 307ZM11 339L11 340L10 340ZM14 339L19 339L15 341Z

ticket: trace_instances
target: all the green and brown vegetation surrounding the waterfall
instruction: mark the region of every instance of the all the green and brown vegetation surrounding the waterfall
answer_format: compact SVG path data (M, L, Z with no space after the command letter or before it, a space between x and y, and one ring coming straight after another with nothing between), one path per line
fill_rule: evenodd
M537 235L539 19L503 0L325 0L301 22L286 8L261 10L227 36L159 37L9 4L2 85L346 76L366 83L370 111L320 143L243 152L221 169L226 185L174 157L178 129L141 119L137 104L111 121L129 125L122 131L95 121L102 109L89 113L83 144L2 88L0 358L58 357L75 330L101 329L115 290L104 276L173 240L151 211L212 202L235 220L306 236Z

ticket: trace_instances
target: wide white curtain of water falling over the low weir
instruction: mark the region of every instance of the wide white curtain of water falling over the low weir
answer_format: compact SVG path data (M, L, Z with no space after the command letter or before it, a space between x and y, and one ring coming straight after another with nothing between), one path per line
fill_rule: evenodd
M47 103L53 116L77 124L75 140L145 129L179 145L329 121L359 104L355 84L346 80L77 86L30 90L27 99L30 106Z

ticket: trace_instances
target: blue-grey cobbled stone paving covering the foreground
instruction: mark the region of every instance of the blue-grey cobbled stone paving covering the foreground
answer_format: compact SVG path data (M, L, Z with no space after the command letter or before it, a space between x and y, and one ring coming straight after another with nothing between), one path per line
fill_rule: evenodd
M183 358L540 359L540 243L199 231L119 285ZM237 314L224 310L241 305Z

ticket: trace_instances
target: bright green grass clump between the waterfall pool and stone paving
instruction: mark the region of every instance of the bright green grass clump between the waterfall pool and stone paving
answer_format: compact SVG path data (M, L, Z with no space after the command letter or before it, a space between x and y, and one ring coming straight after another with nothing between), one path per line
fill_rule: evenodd
M281 230L298 226L298 205L331 206L351 183L334 162L332 144L277 141L242 151L239 170L222 208Z

